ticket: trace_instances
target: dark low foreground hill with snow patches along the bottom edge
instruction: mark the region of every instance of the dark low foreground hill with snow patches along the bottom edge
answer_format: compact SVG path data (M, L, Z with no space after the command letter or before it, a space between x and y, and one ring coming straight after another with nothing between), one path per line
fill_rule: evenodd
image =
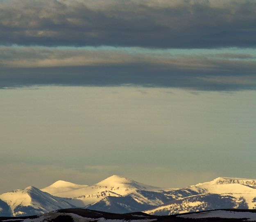
M87 209L61 209L27 217L0 217L0 222L245 222L256 221L256 210L222 209L169 216L142 212L106 213Z

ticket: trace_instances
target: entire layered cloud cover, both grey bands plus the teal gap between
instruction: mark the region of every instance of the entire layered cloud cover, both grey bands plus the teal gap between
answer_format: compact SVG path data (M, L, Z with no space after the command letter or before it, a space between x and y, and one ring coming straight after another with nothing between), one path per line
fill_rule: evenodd
M255 10L251 0L2 0L0 88L255 89Z

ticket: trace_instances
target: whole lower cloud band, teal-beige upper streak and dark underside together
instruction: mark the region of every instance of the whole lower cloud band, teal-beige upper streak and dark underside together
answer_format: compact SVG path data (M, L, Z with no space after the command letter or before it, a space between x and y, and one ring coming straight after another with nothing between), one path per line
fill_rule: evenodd
M247 49L0 47L0 88L31 85L256 89Z

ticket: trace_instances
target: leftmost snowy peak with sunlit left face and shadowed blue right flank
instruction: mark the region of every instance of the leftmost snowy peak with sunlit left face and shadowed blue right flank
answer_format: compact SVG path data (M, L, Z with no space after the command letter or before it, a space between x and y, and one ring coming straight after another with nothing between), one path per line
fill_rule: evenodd
M0 199L9 205L14 216L35 215L56 209L75 207L67 202L68 199L54 197L33 186L2 193ZM3 212L0 215L4 215Z

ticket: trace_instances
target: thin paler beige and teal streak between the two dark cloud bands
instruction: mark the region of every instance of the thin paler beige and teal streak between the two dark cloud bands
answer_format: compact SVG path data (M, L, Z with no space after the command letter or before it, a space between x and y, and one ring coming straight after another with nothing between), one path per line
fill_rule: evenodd
M254 64L256 55L245 50L154 50L127 47L4 47L1 67L63 67L113 64L158 64L184 70L232 70ZM224 52L223 52L224 51ZM231 51L228 53L228 51ZM237 69L237 68L236 68Z

